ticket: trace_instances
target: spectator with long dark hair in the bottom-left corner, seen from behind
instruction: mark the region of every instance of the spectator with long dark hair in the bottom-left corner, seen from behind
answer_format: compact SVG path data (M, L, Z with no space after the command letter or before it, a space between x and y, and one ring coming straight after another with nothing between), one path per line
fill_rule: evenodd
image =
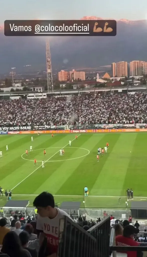
M21 246L21 241L15 231L10 231L4 236L1 252L10 257L31 257L31 254Z

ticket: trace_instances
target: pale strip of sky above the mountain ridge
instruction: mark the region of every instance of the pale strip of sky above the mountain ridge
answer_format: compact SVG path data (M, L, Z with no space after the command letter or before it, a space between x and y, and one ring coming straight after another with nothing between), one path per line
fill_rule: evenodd
M0 25L5 20L78 20L83 16L144 20L146 0L2 0Z

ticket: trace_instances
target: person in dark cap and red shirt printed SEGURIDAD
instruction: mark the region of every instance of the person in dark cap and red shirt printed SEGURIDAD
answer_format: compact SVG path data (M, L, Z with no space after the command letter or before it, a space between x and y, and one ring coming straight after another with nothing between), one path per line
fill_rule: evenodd
M134 234L138 234L139 229L132 225L124 227L123 235L115 237L116 246L139 246L138 242L135 242L133 237ZM120 252L120 251L119 251ZM128 257L137 257L137 252L135 251L122 251L127 254Z

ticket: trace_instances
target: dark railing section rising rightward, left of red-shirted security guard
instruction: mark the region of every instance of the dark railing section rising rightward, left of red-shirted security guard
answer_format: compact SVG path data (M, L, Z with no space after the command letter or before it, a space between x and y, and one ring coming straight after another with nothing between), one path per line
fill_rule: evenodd
M98 257L109 257L110 216L87 230L96 239Z

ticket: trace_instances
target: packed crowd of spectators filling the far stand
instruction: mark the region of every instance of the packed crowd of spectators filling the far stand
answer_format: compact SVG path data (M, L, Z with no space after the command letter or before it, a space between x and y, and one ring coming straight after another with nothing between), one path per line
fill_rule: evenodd
M147 123L147 93L0 100L0 127Z

